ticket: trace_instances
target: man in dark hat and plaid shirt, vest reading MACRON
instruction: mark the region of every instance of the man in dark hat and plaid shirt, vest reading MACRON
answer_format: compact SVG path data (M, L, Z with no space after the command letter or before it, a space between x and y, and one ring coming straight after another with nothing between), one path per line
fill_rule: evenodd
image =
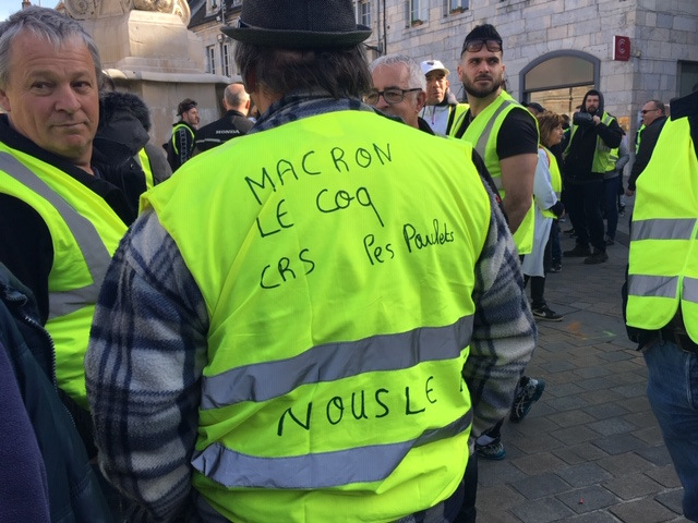
M100 465L161 521L453 521L534 346L472 148L361 101L350 0L245 0L224 32L261 117L121 244L86 358Z

